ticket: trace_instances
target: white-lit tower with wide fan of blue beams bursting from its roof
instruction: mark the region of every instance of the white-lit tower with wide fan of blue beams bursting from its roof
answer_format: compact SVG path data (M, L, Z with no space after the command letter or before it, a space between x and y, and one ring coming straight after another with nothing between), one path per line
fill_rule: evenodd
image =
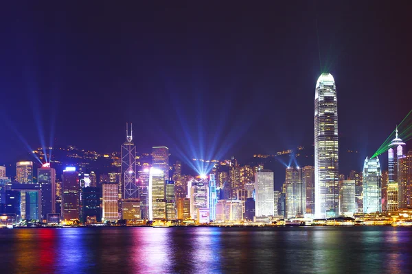
M192 219L198 219L198 209L209 208L209 183L207 179L192 179L187 183L190 197L190 214Z

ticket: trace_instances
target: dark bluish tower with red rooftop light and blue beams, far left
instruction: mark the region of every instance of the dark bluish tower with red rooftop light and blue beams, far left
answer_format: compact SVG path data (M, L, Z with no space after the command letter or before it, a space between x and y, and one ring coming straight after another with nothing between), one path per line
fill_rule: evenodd
M37 169L37 182L41 189L41 219L47 214L56 213L56 170L48 165Z

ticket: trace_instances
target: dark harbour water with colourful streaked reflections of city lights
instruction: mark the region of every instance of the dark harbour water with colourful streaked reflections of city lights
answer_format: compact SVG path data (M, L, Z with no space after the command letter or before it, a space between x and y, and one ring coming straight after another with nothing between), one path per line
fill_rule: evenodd
M1 265L24 273L411 273L401 227L1 229Z

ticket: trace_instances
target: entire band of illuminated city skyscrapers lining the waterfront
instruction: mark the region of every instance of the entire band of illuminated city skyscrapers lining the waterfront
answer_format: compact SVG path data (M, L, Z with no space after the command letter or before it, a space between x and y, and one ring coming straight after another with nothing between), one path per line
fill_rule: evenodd
M50 161L36 174L33 162L18 162L15 180L6 177L5 167L0 166L0 221L25 225L272 223L396 214L411 208L412 151L404 155L398 129L387 147L387 171L381 171L378 157L366 158L363 171L346 176L339 173L337 113L334 78L323 73L314 97L314 166L288 166L281 190L275 190L273 171L263 164L240 165L234 157L221 162L193 159L212 166L209 174L197 177L184 175L179 161L170 165L168 147L152 147L150 163L143 161L130 127L119 154L62 149L69 158L82 162L67 166L61 180ZM42 149L34 152L40 159L51 159ZM270 156L274 155L254 158ZM117 172L99 177L93 171L84 172L87 161L106 158L113 160L111 167Z

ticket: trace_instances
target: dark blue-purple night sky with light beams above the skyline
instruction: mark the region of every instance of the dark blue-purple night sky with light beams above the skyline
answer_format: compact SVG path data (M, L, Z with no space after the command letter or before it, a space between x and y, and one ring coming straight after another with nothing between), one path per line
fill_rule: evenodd
M177 157L310 147L321 72L361 159L411 110L406 7L149 2L2 3L0 163L24 142L119 151L126 122Z

